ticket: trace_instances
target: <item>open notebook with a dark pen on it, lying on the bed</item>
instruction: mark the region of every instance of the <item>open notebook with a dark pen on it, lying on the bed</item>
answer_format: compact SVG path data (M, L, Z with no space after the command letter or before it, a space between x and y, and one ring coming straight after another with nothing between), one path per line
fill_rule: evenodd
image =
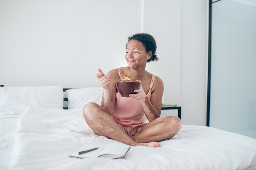
M130 146L123 144L121 142L113 142L108 144L105 147L101 147L97 144L83 144L77 150L75 150L70 157L76 158L110 158L117 159L124 157ZM79 152L92 150L90 152L85 152L83 154L79 154Z

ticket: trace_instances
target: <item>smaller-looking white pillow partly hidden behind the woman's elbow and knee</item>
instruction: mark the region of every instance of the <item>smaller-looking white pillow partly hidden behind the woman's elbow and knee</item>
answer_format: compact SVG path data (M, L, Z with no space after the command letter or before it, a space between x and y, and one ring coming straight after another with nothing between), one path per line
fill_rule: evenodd
M81 108L89 102L101 104L103 88L88 87L88 88L72 88L66 90L68 109Z

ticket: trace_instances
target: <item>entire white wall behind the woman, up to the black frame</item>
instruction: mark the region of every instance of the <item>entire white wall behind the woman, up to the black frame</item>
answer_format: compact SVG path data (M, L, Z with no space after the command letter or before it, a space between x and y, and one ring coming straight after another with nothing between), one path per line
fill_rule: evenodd
M147 70L164 81L164 103L183 124L206 124L206 0L0 1L0 84L98 86L98 68L126 66L127 37L157 41Z

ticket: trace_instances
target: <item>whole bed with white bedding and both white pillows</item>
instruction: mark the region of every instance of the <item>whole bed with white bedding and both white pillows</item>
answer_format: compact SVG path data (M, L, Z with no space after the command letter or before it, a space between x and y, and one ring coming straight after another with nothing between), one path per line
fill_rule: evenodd
M69 157L85 143L117 142L95 136L83 119L84 104L101 95L101 88L0 87L0 169L256 170L256 139L195 125L182 125L159 148L132 146L120 159Z

